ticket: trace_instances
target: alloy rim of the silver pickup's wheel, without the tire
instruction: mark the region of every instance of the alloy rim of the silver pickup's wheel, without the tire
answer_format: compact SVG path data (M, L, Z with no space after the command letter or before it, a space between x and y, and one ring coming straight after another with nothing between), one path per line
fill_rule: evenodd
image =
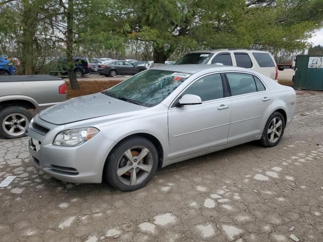
M20 136L28 127L28 118L21 113L12 113L5 117L2 128L11 136Z

